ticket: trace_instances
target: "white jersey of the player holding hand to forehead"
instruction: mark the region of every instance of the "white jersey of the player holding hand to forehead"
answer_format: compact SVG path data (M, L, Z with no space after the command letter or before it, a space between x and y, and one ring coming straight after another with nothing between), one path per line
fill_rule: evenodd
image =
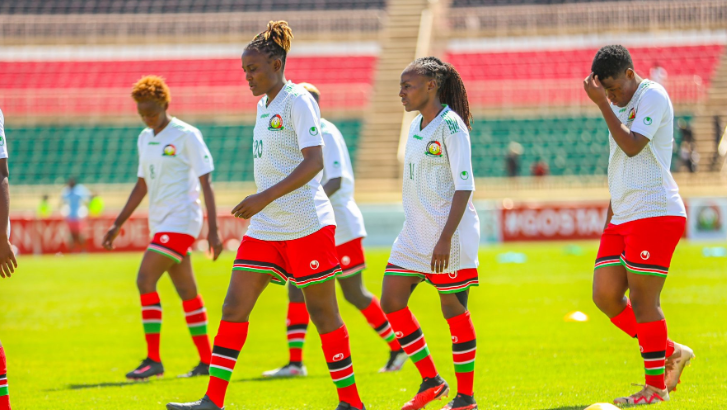
M626 107L611 105L611 109L631 132L649 139L639 154L629 158L608 134L611 223L618 225L657 216L686 217L679 187L670 171L674 107L664 87L643 80Z

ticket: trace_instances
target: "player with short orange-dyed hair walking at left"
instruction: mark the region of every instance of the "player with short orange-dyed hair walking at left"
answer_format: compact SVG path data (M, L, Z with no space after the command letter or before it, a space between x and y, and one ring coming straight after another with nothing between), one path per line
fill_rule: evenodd
M144 253L136 285L141 294L141 317L146 335L147 357L126 374L130 380L145 380L164 374L159 355L162 306L156 284L164 274L182 298L187 326L199 352L199 364L183 375L209 374L211 348L207 337L207 311L192 271L190 247L202 229L200 186L204 193L209 224L209 250L213 258L222 252L217 233L217 212L210 175L212 156L193 126L167 114L171 100L164 79L146 76L134 84L131 96L141 120L148 128L139 134L139 170L136 186L114 224L104 236L103 246L113 249L121 226L149 193L149 230L154 235Z

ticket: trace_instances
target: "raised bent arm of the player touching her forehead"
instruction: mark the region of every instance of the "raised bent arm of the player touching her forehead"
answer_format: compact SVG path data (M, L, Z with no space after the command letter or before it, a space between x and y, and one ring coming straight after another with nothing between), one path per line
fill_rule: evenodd
M606 120L608 130L611 131L613 140L616 141L619 148L628 155L633 157L638 155L641 150L646 147L649 143L649 138L646 138L642 134L632 132L628 127L623 125L618 119L616 114L611 109L611 104L608 102L606 97L606 89L603 88L601 82L598 80L598 76L594 76L593 73L583 81L583 88L586 90L588 97L598 106L601 110L603 119Z

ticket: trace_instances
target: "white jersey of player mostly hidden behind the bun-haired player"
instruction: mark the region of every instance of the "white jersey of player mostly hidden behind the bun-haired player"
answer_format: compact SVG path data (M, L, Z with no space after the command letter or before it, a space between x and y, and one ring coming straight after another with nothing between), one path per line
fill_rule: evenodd
M323 135L323 180L341 178L341 188L329 198L336 216L336 246L366 236L363 215L353 200L353 167L346 141L341 131L325 119L321 119Z

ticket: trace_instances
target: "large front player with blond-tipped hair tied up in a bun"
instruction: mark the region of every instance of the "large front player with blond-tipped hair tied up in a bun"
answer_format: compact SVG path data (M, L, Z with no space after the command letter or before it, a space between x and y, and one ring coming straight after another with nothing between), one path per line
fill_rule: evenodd
M268 283L290 280L303 290L310 318L340 403L337 410L363 409L354 381L346 326L338 313L334 280L341 272L335 248L333 208L321 186L323 139L320 112L300 85L285 80L292 31L271 21L242 54L257 106L253 159L257 193L232 213L250 219L240 244L212 350L207 394L170 410L222 408L232 370L245 343L250 312Z

